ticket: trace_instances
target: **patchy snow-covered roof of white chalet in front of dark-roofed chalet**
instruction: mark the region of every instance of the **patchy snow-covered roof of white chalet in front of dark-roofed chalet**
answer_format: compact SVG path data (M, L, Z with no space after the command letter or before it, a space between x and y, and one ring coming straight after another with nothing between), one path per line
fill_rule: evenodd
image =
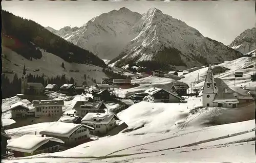
M115 114L88 113L86 116L83 117L81 123L109 124L113 118L119 120L119 118Z

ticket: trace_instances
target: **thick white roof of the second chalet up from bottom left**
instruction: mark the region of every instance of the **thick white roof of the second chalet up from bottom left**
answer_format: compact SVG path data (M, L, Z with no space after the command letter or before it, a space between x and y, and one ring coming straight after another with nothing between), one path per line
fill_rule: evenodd
M56 137L70 137L70 135L75 132L80 127L86 127L89 129L94 129L91 126L84 124L74 124L65 122L52 122L46 126L45 129L40 131L40 134L46 134Z

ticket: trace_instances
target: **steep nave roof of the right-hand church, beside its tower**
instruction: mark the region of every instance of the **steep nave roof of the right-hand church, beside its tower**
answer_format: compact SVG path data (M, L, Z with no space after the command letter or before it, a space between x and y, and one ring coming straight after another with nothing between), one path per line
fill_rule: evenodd
M238 99L233 95L234 92L223 82L222 79L216 78L215 82L218 92L212 102L239 103Z

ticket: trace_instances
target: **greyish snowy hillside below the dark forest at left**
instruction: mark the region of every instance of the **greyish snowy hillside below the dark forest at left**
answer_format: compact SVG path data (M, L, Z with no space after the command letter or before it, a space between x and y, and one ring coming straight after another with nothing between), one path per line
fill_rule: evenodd
M24 57L18 55L16 52L3 47L5 49L2 53L7 56L6 60L3 58L3 71L13 71L17 73L18 77L22 77L23 66L26 66L27 73L32 75L42 76L45 74L47 77L56 77L66 75L66 78L73 77L77 85L81 85L82 82L87 81L88 85L93 85L93 82L90 78L95 78L97 83L101 83L101 78L107 78L105 73L102 72L102 68L94 65L87 64L77 64L77 63L68 63L63 59L53 55L52 53L41 50L42 58L33 59L32 61L25 59ZM61 67L62 62L65 65L66 72ZM14 65L17 64L18 66ZM49 65L49 66L46 66ZM40 71L34 72L33 70L39 69ZM70 70L79 72L70 72ZM84 79L83 75L87 75L87 79ZM14 74L6 74L11 80L13 79Z

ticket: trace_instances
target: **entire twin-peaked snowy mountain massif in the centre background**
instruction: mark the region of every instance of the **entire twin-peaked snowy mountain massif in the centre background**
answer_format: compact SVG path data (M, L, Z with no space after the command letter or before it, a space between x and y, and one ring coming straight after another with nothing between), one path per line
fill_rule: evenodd
M118 67L134 63L193 67L242 57L241 52L204 37L156 8L142 15L121 8L97 16L65 36L55 33Z

